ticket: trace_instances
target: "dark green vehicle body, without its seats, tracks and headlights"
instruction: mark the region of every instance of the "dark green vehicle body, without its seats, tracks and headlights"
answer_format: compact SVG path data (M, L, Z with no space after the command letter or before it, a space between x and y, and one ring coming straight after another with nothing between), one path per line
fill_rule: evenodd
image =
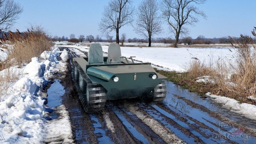
M101 84L106 89L106 100L140 97L143 93L154 89L162 80L163 75L156 73L151 63L127 63L122 58L122 64L88 64L88 58L74 58L86 71L93 84ZM157 75L153 80L152 75ZM134 79L136 75L136 79ZM114 82L113 78L119 81Z

